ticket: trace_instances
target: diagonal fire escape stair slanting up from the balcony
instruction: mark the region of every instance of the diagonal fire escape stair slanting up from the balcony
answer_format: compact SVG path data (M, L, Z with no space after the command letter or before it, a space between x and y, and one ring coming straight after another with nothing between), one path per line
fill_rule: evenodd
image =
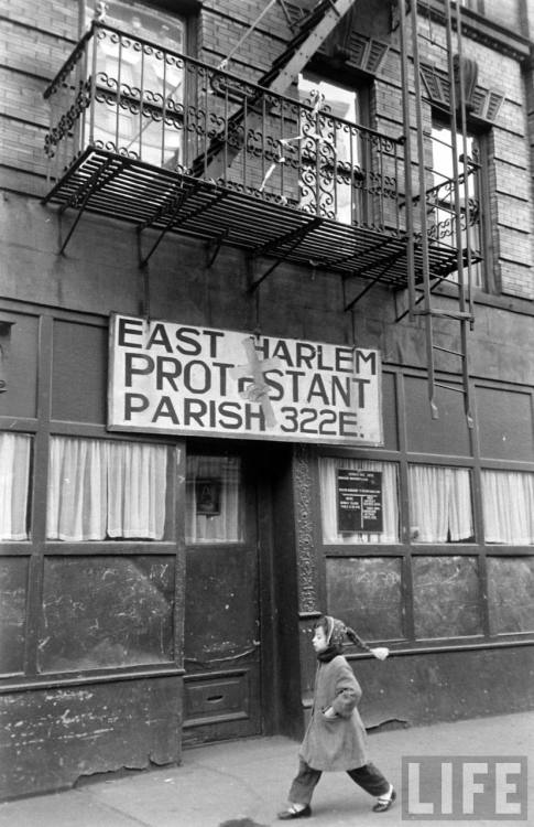
M299 22L295 36L285 51L259 80L265 92L284 95L299 72L317 52L337 23L357 0L320 0L315 9ZM247 132L261 127L263 120L262 101L255 96L228 118L225 133L216 137L207 153L199 155L192 164L194 175L217 180L224 176L247 138L240 135L240 126L246 122Z

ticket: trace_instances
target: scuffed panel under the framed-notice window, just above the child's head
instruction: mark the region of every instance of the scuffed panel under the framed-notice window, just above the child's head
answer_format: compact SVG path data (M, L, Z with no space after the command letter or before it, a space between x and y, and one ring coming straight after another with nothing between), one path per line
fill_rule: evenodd
M397 557L330 558L328 613L364 641L402 637L401 565Z

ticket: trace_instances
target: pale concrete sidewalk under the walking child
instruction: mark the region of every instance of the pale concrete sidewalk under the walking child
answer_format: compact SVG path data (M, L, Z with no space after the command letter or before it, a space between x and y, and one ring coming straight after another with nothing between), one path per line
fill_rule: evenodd
M403 755L527 755L530 818L402 820L401 802L383 814L345 773L323 776L309 827L404 825L508 827L534 824L534 712L479 718L371 734L372 760L400 790ZM75 790L0 804L0 827L271 827L283 824L297 766L298 744L286 738L252 739L195 748L181 766L129 774ZM400 796L401 797L401 796Z

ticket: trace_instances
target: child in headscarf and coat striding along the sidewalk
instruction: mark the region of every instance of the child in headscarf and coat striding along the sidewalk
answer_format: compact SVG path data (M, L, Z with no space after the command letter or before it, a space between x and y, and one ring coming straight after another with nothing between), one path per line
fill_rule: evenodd
M393 786L368 758L366 730L357 709L361 689L341 654L345 637L380 660L388 657L386 648L371 649L336 617L325 615L315 624L312 643L318 666L312 720L298 753L299 767L291 785L287 808L279 813L282 820L312 815L309 803L324 771L347 772L377 798L372 808L375 813L385 813L396 798Z

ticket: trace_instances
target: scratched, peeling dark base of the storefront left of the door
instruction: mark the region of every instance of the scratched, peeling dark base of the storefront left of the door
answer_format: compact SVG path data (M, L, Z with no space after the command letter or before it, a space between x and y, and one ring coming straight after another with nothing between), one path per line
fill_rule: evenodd
M181 683L170 676L0 696L0 797L178 761Z

